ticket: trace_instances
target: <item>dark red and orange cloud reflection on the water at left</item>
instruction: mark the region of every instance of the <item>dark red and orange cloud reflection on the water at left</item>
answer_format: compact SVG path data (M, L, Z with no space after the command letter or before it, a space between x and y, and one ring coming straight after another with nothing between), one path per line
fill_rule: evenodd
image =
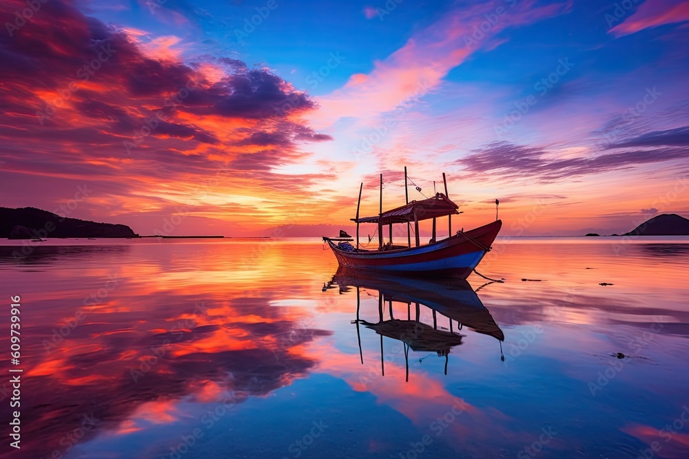
M12 250L0 249L3 261L10 261ZM21 407L23 433L30 441L17 451L18 458L64 452L60 441L79 428L85 414L99 421L81 441L103 431L138 431L144 427L132 419L142 416L174 422L174 407L183 398L208 401L213 394L218 398L232 392L240 403L291 384L316 364L298 349L331 332L303 328L303 312L271 306L281 295L270 288L247 295L233 284L205 289L203 276L200 288L174 285L156 276L167 270L169 261L140 251L130 246L41 246L19 266L40 264L46 266L43 272L6 264L3 275L21 285L23 303L30 308L23 319L31 323L23 344L27 366L22 385L30 396ZM121 275L110 295L84 306L88 293L102 285L107 272L102 266L107 264L129 270L129 275ZM145 268L145 278L138 275L138 266ZM72 275L61 276L65 268ZM48 288L41 287L37 275L52 278ZM260 277L256 281L260 286ZM195 312L199 297L205 308ZM83 313L83 321L65 328L68 332L53 343L55 330L59 333L76 311ZM142 414L153 408L150 415Z

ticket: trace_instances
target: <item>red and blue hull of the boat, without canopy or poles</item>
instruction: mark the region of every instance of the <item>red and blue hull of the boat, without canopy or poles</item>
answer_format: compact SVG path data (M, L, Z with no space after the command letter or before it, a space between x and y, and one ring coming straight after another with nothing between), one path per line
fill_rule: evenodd
M414 275L455 275L466 278L486 255L500 232L496 220L466 233L459 233L427 246L398 250L355 250L347 252L327 241L340 266Z

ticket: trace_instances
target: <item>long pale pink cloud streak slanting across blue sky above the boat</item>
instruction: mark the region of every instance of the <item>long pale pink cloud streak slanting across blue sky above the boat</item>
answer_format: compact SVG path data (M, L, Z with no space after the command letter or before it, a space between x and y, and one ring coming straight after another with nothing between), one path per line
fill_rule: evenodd
M339 118L391 111L440 85L476 50L495 47L495 36L505 28L535 23L569 8L569 3L535 6L533 0L514 5L493 1L451 12L376 61L369 74L353 75L344 87L320 98L321 109L313 122L331 125Z

